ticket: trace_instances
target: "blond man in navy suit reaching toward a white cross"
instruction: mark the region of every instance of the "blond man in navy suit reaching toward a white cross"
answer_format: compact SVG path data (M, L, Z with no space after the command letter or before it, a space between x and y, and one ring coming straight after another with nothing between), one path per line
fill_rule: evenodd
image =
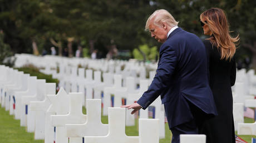
M146 29L151 37L163 43L156 75L137 103L121 107L134 109L134 114L161 95L173 143L180 142L180 134L203 134L204 121L217 114L208 83L203 42L195 34L179 28L178 22L164 9L151 14Z

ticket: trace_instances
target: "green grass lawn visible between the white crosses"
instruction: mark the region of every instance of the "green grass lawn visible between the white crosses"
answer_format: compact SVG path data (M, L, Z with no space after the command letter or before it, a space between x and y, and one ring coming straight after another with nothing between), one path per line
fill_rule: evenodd
M83 108L83 114L86 114L86 109ZM101 116L103 124L108 123L107 116ZM254 122L253 119L245 118L244 122ZM0 143L43 143L43 140L34 140L34 134L26 132L25 127L19 125L19 120L14 120L14 116L9 115L8 111L4 108L0 108ZM138 120L135 122L135 126L126 126L125 132L127 136L138 136ZM243 140L250 142L252 135L239 135ZM161 139L160 143L170 143L171 132L168 124L165 124L165 139Z

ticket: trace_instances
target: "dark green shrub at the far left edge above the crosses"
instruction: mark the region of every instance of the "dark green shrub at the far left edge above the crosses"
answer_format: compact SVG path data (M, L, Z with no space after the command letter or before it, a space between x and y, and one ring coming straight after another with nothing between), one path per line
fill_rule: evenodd
M3 60L12 55L11 48L3 41L4 34L0 30L0 64L3 64Z

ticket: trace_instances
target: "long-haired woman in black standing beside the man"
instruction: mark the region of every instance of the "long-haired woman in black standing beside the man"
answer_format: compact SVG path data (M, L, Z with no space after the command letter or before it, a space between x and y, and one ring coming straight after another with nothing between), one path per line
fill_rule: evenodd
M204 133L208 143L235 142L233 97L231 86L235 84L235 43L239 36L229 34L227 17L222 9L210 8L200 15L201 26L208 55L209 84L213 91L218 115L206 121Z

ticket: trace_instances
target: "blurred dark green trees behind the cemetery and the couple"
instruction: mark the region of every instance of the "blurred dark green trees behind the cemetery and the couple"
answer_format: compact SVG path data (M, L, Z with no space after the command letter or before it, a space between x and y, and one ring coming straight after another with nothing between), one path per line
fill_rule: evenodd
M199 16L211 7L240 35L238 69L256 69L255 0L0 0L0 64L16 53L156 62L161 44L144 30L150 14L166 9L203 40Z

